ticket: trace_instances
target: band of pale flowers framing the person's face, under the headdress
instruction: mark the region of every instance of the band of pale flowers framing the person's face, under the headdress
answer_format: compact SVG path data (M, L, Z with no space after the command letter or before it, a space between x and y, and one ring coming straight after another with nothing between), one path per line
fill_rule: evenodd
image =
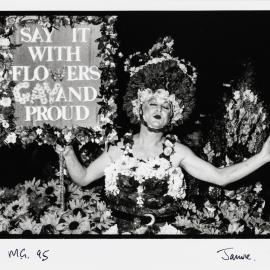
M184 109L184 105L182 105L181 107L179 106L181 102L175 98L174 94L170 95L169 92L165 89L158 89L153 92L151 89L147 88L144 90L139 89L138 98L132 101L133 113L135 116L138 117L138 119L140 118L140 108L142 104L146 101L149 101L153 97L170 102L173 111L173 117L171 120L172 124L183 118L182 112Z

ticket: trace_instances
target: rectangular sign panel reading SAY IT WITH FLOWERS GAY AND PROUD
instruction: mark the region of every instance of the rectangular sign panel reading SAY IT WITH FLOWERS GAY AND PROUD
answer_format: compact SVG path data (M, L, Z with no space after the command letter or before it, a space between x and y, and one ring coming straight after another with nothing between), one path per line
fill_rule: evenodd
M97 125L100 25L18 27L12 67L16 125Z

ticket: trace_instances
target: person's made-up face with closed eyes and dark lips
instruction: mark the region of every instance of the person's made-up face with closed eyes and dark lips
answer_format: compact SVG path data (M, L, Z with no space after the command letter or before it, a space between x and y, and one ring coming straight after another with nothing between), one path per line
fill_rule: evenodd
M152 97L142 105L143 118L149 127L160 129L170 120L171 104L164 98Z

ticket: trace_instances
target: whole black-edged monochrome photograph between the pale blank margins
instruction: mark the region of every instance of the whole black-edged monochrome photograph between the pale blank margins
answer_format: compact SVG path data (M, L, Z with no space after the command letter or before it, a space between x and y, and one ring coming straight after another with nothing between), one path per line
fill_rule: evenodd
M268 238L269 26L1 12L0 236Z

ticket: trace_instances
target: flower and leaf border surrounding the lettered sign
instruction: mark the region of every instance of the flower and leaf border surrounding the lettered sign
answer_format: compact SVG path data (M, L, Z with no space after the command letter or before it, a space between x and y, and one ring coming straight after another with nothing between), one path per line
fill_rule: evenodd
M3 18L3 17L2 17ZM36 142L39 145L67 145L77 141L80 145L93 142L103 145L117 140L114 119L117 117L115 98L118 93L116 60L122 57L118 52L119 42L115 32L117 16L4 16L5 25L0 25L0 146ZM96 127L65 127L63 129L43 124L43 126L23 127L15 124L15 108L12 80L13 50L16 44L10 42L10 36L16 31L16 25L40 24L49 30L61 25L101 24L101 37L98 42L101 71L101 85L98 116L100 125Z

